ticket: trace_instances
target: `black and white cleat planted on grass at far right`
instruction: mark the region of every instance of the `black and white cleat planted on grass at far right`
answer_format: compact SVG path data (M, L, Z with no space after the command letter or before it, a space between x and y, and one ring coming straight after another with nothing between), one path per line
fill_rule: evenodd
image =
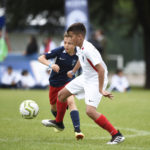
M125 140L125 137L118 130L118 133L113 135L112 139L107 144L110 144L110 145L119 144L123 142L124 140Z

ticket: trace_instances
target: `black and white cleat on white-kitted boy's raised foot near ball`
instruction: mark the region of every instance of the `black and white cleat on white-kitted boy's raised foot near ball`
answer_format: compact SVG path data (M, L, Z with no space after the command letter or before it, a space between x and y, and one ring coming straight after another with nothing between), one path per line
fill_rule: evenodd
M46 127L54 127L59 131L62 131L65 128L62 122L57 123L55 120L42 120L42 124Z

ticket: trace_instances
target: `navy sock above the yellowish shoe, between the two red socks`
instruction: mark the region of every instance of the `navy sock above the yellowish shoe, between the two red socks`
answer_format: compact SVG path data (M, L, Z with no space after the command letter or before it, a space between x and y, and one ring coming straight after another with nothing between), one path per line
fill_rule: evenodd
M72 123L74 126L74 131L75 132L81 132L81 130L80 130L80 118L79 118L78 110L71 111L70 116L71 116Z

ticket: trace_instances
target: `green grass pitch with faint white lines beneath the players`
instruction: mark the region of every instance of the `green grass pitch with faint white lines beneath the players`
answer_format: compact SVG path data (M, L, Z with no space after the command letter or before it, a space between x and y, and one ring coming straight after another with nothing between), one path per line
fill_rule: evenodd
M76 104L85 138L76 141L69 111L63 132L41 125L42 119L53 119L48 90L0 90L0 150L150 150L150 90L134 88L129 93L113 94L112 101L102 99L98 111L126 140L111 146L106 144L110 135L86 116L83 100L76 100ZM35 119L23 119L19 114L19 105L26 99L35 100L40 107Z

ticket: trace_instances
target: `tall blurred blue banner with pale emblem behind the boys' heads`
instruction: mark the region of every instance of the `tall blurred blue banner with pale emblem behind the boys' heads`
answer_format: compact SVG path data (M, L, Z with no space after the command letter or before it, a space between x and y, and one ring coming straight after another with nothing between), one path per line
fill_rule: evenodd
M73 23L82 22L89 35L89 17L87 0L65 0L66 29Z

